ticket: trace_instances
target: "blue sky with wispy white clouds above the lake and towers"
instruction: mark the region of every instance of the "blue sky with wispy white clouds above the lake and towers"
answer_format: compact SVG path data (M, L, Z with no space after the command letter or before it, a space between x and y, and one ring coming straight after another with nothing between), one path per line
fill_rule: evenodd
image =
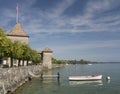
M56 59L120 61L120 0L0 0L0 26L19 21L32 48Z

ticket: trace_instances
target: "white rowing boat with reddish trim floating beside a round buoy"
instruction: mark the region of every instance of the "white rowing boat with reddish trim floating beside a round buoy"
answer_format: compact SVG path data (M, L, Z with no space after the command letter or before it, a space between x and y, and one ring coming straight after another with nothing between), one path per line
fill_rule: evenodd
M69 76L70 81L94 81L101 80L102 75L90 75L90 76Z

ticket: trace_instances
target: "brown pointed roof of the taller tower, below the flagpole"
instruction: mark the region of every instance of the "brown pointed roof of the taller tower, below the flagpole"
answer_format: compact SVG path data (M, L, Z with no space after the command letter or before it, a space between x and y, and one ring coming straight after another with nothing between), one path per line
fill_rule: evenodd
M22 26L20 23L17 23L13 29L11 30L11 32L8 33L8 35L10 36L25 36L25 37L28 37L26 35L26 33L24 32Z

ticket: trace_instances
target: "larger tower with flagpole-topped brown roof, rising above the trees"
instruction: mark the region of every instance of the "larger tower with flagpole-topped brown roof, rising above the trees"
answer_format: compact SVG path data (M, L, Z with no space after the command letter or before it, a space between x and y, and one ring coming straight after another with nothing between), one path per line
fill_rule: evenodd
M20 23L17 23L11 32L7 34L11 41L20 41L21 43L28 44L29 36L26 35Z

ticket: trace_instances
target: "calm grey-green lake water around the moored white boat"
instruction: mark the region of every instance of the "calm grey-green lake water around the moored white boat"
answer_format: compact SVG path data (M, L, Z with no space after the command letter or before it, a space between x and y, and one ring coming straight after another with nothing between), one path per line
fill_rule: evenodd
M120 64L68 65L46 71L44 74L60 73L60 81L35 78L15 94L120 94ZM70 75L102 74L102 81L69 81ZM111 80L106 81L106 76Z

